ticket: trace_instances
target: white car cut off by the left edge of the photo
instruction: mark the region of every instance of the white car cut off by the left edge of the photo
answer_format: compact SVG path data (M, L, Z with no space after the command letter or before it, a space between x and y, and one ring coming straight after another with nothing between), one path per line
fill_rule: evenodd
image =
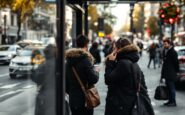
M0 45L0 63L9 64L10 60L17 55L21 47L18 45Z

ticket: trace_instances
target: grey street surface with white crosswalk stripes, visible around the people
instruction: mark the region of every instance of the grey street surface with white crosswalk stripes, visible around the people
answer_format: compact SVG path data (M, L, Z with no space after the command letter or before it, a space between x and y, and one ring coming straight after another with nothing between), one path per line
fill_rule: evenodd
M149 95L156 115L184 115L185 91L177 91L177 107L165 107L165 101L154 100L154 92L159 84L160 69L148 69L147 54L144 53L139 65L144 72ZM94 115L104 115L107 87L104 84L104 65L100 65L100 80L96 85L101 96L101 105ZM152 66L151 66L152 67ZM0 115L34 115L36 85L29 79L10 79L8 65L0 65Z

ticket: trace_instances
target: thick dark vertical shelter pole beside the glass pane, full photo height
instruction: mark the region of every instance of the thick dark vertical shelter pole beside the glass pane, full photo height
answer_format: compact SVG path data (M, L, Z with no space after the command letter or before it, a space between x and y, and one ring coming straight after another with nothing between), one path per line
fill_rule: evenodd
M56 64L56 112L65 115L65 4L66 0L57 0L57 64Z

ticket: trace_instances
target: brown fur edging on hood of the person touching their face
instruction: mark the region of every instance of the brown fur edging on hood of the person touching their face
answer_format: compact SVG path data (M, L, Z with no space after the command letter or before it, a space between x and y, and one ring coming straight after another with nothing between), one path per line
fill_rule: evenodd
M139 52L139 48L134 45L134 44L131 44L131 45L128 45L128 46L125 46L121 49L118 50L118 53L121 53L121 52Z

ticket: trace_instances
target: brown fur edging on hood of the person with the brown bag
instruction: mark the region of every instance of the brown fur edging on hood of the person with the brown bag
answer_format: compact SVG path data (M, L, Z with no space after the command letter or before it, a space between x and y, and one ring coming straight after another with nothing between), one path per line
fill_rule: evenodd
M72 48L66 51L65 57L66 58L77 58L81 56L87 56L91 63L94 63L94 57L87 51L81 48Z

